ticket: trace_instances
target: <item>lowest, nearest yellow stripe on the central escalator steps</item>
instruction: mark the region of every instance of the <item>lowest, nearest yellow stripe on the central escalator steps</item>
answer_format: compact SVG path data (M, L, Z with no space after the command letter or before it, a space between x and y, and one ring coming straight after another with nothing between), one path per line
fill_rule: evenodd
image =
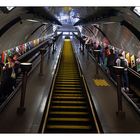
M90 126L82 125L48 125L47 128L50 129L90 129Z

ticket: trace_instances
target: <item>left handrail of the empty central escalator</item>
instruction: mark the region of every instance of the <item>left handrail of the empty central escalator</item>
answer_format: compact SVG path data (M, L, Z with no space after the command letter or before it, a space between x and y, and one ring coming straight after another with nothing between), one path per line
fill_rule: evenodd
M58 73L58 70L59 70L60 60L61 60L61 57L62 57L62 49L63 49L63 47L61 48L61 52L60 52L58 62L57 62L57 65L56 65L56 70L55 70L53 80L52 80L52 83L51 83L51 86L50 86L49 96L48 96L48 99L46 101L46 107L45 107L45 110L44 110L44 115L42 117L41 125L40 125L40 128L39 128L40 133L43 133L44 130L45 130L45 127L46 127L46 122L47 122L47 118L48 118L48 113L49 113L49 108L50 108L50 104L51 104L51 98L52 98L52 94L53 94L55 80L56 80L56 76L57 76L57 73Z

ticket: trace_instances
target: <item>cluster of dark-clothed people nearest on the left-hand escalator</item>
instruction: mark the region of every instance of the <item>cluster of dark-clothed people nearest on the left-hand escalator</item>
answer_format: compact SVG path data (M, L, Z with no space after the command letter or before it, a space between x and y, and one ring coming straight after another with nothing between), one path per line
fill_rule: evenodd
M19 62L17 61L16 55L17 54L8 56L5 64L1 61L0 102L15 89L16 76L19 68Z

